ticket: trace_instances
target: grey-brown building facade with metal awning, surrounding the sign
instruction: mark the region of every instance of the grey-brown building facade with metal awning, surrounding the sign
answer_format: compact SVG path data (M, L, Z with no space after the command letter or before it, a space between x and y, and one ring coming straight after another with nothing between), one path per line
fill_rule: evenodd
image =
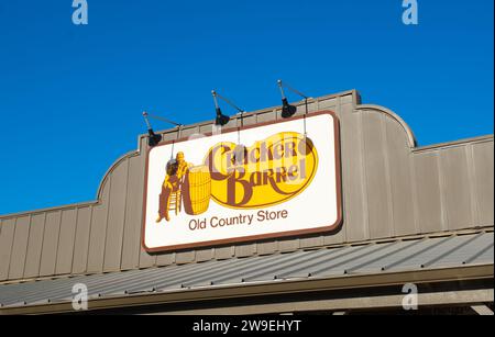
M356 91L310 99L339 122L336 231L166 251L143 246L147 136L103 176L94 202L0 216L0 314L402 313L493 310L493 135L418 147L391 110ZM306 113L297 104L296 116ZM280 121L280 106L245 126ZM161 132L164 142L212 122ZM239 126L232 119L224 128ZM409 284L409 285L407 285Z

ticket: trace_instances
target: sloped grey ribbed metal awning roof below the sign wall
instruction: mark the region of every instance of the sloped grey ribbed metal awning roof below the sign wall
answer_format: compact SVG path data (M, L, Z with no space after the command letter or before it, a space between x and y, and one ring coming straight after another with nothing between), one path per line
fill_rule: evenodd
M88 295L180 291L199 287L235 285L275 280L380 274L493 265L493 233L418 238L361 246L298 250L202 263L187 263L57 280L0 285L0 304L22 306L70 302L73 285L84 283ZM420 280L417 280L420 281Z

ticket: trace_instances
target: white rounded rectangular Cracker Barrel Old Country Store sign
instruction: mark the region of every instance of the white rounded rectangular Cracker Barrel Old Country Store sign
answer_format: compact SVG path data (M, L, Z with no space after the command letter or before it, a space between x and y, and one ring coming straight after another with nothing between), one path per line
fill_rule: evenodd
M339 149L330 111L158 144L147 154L143 247L333 231L342 217Z

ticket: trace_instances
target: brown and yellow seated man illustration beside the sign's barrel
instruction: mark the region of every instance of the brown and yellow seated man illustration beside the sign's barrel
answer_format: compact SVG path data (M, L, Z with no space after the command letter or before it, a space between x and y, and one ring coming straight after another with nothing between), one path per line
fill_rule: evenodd
M175 214L178 214L178 212L180 211L180 189L190 166L191 165L184 159L184 153L180 151L177 153L175 160L170 160L167 162L167 173L162 184L158 217L156 218L156 223L160 223L163 218L169 221L169 210L175 210Z

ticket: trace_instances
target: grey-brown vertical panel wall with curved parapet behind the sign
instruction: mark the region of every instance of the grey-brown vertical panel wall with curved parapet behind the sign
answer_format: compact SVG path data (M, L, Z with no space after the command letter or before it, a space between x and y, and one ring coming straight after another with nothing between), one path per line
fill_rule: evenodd
M410 131L354 91L311 101L340 119L343 226L332 234L150 255L141 248L145 138L103 178L98 203L0 217L0 281L100 273L210 259L287 252L374 238L457 231L494 223L493 137L415 148ZM302 113L300 104L298 113ZM246 125L279 119L254 113ZM235 126L232 120L228 126ZM209 132L186 126L165 139Z

